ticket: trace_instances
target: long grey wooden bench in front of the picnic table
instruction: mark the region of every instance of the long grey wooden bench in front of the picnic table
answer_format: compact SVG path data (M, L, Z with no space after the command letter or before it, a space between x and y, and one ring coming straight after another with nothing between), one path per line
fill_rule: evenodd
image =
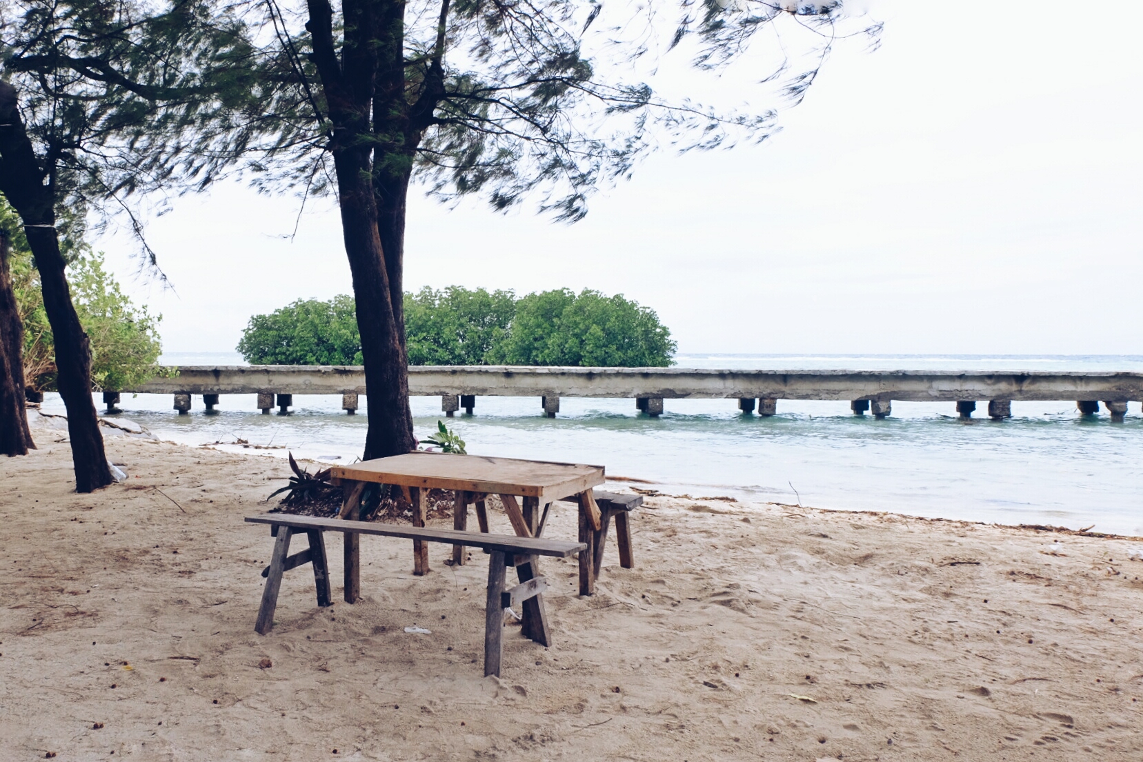
M306 563L313 567L313 581L318 592L318 605L331 605L329 591L329 566L326 560L325 531L347 532L349 536L377 535L381 537L401 537L421 543L447 543L488 551L488 596L485 609L485 675L499 675L503 653L504 609L520 605L530 609L535 626L525 634L543 644L551 644L547 627L547 616L544 611L543 593L547 580L538 573L538 558L550 555L567 558L586 550L583 543L570 540L543 539L535 537L512 537L509 535L488 535L455 529L429 529L425 527L401 527L369 521L347 521L345 519L320 519L318 516L296 516L283 513L267 513L258 516L247 516L250 523L270 524L270 534L274 539L274 552L270 566L263 571L266 585L262 591L262 607L254 625L255 632L265 635L273 627L274 610L278 608L278 591L281 587L282 575ZM289 554L290 537L305 534L310 546L294 555ZM506 567L514 567L520 584L510 589L504 588Z

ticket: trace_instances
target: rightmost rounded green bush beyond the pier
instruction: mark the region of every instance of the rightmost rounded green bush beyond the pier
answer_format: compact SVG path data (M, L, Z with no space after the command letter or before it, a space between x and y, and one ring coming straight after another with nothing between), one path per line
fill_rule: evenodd
M498 347L497 361L511 366L598 366L662 368L677 348L654 310L623 297L584 289L529 294L515 305L515 320Z

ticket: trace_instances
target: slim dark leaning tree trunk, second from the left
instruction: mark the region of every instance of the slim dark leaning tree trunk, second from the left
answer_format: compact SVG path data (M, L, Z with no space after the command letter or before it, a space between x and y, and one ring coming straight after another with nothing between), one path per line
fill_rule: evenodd
M90 492L111 483L111 468L91 400L91 348L72 305L64 273L67 262L55 227L55 193L43 184L45 176L16 107L16 89L0 82L0 193L24 222L40 271L43 310L55 339L56 383L67 408L75 491Z

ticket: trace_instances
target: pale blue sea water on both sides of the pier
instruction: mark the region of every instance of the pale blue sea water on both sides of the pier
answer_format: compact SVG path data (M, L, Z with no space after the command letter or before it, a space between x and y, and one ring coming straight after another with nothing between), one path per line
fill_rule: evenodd
M168 354L162 362L243 364L229 353ZM1143 356L681 354L677 366L1143 371ZM197 395L186 416L171 409L171 395L125 394L119 407L159 439L185 444L327 463L361 455L366 396L357 416L341 410L341 395L294 402L288 416L262 415L253 394L223 395L214 415ZM1102 406L1098 416L1079 416L1068 400L1013 402L1004 422L990 420L985 406L961 420L952 402L894 401L885 420L854 416L846 401L780 400L773 417L742 414L737 400L665 400L658 418L640 415L634 400L563 398L554 419L535 396L477 398L474 415L451 419L439 398L413 398L411 407L422 439L445 420L472 454L600 464L608 475L673 495L1143 535L1135 472L1143 467L1143 415L1135 402L1116 424ZM45 410L62 411L58 396L47 395Z

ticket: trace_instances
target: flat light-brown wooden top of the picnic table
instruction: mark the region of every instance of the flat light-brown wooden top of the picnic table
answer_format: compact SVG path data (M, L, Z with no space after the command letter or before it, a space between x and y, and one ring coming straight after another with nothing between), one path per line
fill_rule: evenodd
M338 480L519 495L539 498L541 503L558 500L604 483L604 466L438 452L394 455L333 466L329 471L330 476Z

